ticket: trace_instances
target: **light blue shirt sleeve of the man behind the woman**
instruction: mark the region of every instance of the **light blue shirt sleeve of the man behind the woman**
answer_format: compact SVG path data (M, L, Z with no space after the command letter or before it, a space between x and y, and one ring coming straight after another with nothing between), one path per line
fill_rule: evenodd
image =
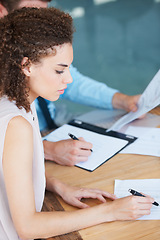
M112 109L112 98L118 90L84 76L72 65L70 66L70 73L73 82L68 84L61 98L92 107Z

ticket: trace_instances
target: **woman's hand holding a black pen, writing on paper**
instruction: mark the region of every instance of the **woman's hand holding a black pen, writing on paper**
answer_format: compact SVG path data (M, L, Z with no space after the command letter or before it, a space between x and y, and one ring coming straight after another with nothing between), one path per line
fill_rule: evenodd
M149 215L154 199L138 196L119 198L111 202L111 221L135 220L144 215Z

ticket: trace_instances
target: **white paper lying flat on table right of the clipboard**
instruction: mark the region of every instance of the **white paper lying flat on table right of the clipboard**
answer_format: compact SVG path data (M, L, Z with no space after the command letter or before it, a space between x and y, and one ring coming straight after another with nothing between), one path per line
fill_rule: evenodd
M125 134L134 135L138 139L120 153L160 157L160 128L129 127Z

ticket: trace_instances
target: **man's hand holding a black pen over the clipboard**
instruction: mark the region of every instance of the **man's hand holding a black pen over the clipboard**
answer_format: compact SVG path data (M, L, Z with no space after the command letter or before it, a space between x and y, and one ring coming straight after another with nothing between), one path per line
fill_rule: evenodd
M92 144L86 142L83 138L78 140L62 140L58 142L49 142L44 140L45 159L54 161L60 165L74 166L79 162L85 162L92 154Z

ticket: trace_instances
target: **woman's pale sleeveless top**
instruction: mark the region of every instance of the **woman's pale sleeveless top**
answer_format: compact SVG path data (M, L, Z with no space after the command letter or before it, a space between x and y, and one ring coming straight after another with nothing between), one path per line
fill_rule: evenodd
M31 105L32 112L26 113L25 109L18 109L14 102L7 98L0 99L0 240L19 240L14 228L8 199L4 184L2 156L6 129L9 121L15 116L23 116L33 127L34 153L33 153L33 186L35 195L36 211L40 212L45 193L45 171L43 144L40 136L37 114L34 103Z

